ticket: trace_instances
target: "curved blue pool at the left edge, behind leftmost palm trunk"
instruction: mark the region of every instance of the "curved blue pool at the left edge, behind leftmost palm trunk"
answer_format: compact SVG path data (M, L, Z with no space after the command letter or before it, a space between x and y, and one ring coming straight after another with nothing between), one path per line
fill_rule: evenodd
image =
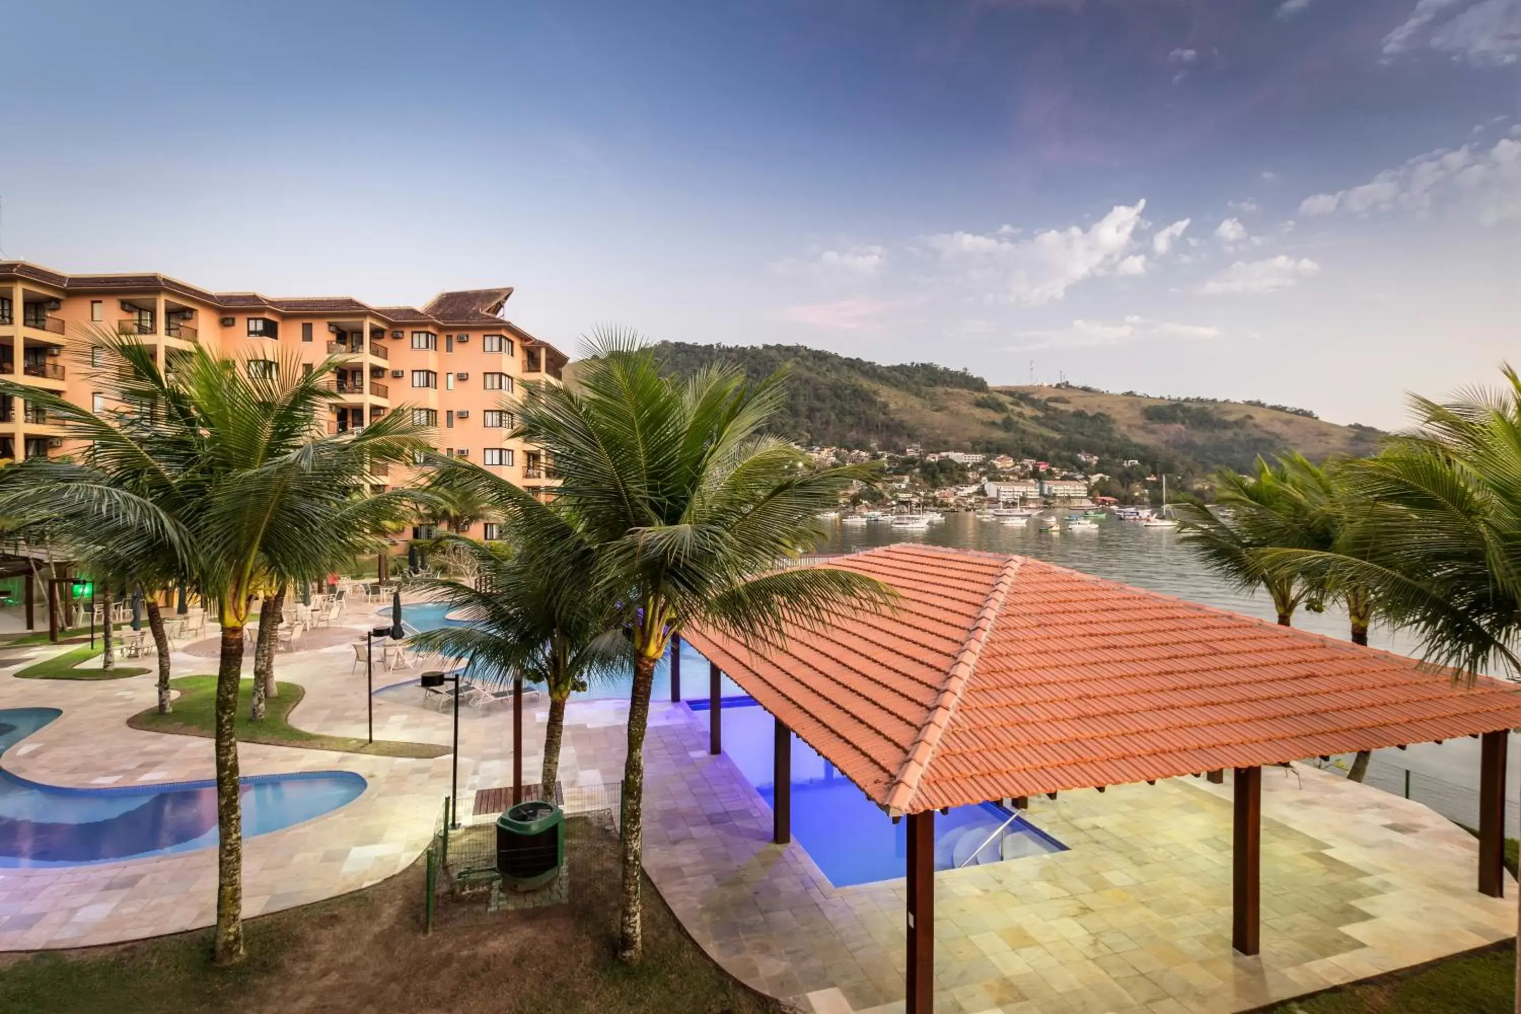
M0 710L0 754L61 715ZM242 780L243 836L321 816L353 801L365 780L347 771ZM213 781L70 789L0 769L0 868L73 867L207 848L216 844Z

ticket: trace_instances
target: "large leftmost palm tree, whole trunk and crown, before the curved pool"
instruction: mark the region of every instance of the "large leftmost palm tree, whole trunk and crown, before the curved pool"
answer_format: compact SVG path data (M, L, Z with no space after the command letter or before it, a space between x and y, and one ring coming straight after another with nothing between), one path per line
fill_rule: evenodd
M102 334L96 342L125 365L97 379L125 410L97 415L0 383L6 394L46 404L68 436L93 445L85 474L70 477L59 471L67 462L44 462L17 482L21 497L70 506L70 523L90 518L99 531L166 541L190 584L216 604L214 959L233 964L243 958L234 718L249 593L265 573L313 573L335 555L370 552L383 526L411 509L406 494L368 494L371 465L403 464L424 444L406 410L357 435L319 436L318 412L335 397L327 383L335 359L303 372L295 354L234 360L196 348L169 374L135 341ZM116 541L75 534L87 544Z

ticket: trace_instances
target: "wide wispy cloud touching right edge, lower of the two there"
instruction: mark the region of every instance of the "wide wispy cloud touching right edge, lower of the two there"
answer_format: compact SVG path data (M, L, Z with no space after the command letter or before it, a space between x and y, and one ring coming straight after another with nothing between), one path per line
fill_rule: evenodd
M1491 225L1521 217L1521 140L1501 137L1489 149L1463 144L1427 152L1361 185L1308 196L1299 213L1404 210L1425 214L1439 202L1463 204Z

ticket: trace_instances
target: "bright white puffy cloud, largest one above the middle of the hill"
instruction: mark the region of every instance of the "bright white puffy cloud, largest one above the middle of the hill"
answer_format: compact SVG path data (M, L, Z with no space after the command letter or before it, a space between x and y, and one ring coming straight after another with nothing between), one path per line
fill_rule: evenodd
M993 289L995 298L1025 306L1060 299L1074 284L1116 271L1135 246L1145 201L1115 205L1094 225L1046 230L1030 239L941 233L925 239L955 265L963 281Z

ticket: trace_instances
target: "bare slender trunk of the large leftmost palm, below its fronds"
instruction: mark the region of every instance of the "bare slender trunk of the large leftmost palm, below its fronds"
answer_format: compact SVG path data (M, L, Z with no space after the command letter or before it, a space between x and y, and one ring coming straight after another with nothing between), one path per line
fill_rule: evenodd
M243 628L228 620L224 614L214 722L218 842L213 961L219 965L243 959L243 809L237 797L237 684L243 678Z

